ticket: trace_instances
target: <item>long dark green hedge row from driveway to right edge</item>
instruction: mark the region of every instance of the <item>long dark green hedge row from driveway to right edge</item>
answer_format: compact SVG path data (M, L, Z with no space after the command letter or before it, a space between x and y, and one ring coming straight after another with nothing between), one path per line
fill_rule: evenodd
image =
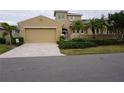
M61 49L74 49L74 48L88 48L95 47L98 45L117 45L124 44L124 40L84 40L80 38L75 38L70 41L60 41L57 42L59 48Z

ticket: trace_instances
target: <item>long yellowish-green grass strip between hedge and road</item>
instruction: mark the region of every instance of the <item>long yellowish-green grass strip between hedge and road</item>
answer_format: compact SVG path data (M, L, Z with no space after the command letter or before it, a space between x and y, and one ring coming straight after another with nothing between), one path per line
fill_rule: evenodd
M84 49L61 49L61 53L66 55L105 54L121 52L124 52L124 45L107 45Z

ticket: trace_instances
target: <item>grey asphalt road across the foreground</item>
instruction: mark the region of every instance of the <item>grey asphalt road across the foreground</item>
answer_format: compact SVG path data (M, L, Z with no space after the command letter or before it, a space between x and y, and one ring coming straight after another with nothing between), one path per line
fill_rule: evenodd
M123 82L124 53L0 58L1 82Z

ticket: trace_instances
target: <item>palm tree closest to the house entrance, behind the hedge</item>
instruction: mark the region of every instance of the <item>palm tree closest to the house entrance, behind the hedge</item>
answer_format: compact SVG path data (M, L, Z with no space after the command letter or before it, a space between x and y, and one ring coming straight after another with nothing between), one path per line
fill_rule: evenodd
M71 28L72 30L76 30L79 33L79 38L80 38L81 30L83 30L82 21L81 20L73 21Z

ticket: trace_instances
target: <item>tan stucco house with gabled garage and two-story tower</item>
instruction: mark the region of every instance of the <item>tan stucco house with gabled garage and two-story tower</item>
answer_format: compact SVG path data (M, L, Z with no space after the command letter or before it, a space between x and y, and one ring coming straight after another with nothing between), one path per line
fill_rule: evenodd
M70 29L72 21L81 20L81 16L68 11L54 11L55 19L41 15L18 22L18 27L25 43L56 42L62 34L68 40L73 33Z

